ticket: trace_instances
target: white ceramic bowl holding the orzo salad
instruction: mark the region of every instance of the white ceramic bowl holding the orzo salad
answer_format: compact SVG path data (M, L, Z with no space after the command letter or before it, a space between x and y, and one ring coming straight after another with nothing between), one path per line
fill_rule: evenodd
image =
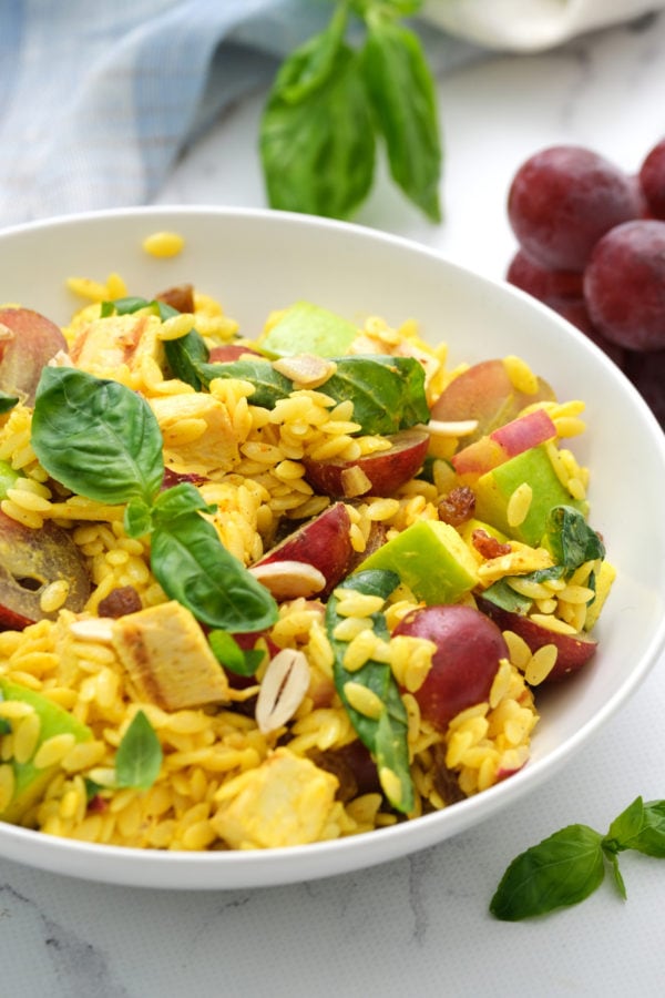
M183 253L155 259L142 240L175 230ZM553 312L508 285L371 230L277 212L136 208L53 220L0 233L0 302L64 323L80 304L69 275L119 271L151 296L193 281L253 336L272 308L308 298L354 318L417 318L452 361L518 354L561 398L586 401L576 454L591 466L591 520L618 577L597 628L600 650L574 680L539 694L529 765L443 812L380 832L305 847L160 853L94 846L0 824L0 854L62 874L133 886L219 889L330 876L422 849L484 821L540 786L620 709L665 645L665 438L606 357Z

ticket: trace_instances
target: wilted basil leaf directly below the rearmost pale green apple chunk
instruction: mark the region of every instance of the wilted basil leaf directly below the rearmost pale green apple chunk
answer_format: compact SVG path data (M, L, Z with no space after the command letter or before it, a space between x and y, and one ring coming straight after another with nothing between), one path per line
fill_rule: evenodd
M336 401L350 398L361 432L389 435L429 422L424 370L413 357L340 357L320 390Z

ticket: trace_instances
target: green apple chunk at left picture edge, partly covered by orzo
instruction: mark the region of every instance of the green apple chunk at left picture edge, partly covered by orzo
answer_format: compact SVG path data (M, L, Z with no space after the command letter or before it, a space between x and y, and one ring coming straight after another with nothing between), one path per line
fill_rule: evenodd
M21 701L34 709L39 719L39 736L30 758L17 761L13 756L8 758L6 765L13 768L13 793L11 800L0 813L3 822L20 822L25 812L39 800L50 780L58 770L58 764L39 767L34 764L39 750L44 742L54 735L72 734L76 742L85 742L92 737L91 730L69 714L53 701L35 693L19 683L9 680L0 680L0 697L6 701ZM9 722L12 727L24 723L22 721ZM7 735L11 737L11 735ZM2 739L0 739L0 742ZM39 758L38 758L39 761Z

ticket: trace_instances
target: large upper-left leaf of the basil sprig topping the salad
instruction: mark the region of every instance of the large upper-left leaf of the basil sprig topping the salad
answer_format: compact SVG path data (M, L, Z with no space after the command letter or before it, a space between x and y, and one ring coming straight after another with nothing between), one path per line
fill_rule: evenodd
M150 503L164 477L162 434L135 391L71 367L44 367L34 400L32 448L42 467L98 502Z

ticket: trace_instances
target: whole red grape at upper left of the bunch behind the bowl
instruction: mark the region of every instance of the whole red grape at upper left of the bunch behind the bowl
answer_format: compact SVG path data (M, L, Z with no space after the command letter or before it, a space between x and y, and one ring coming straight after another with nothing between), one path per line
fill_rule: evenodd
M583 271L601 236L640 215L634 177L577 145L535 153L518 170L508 195L520 246L554 271Z

